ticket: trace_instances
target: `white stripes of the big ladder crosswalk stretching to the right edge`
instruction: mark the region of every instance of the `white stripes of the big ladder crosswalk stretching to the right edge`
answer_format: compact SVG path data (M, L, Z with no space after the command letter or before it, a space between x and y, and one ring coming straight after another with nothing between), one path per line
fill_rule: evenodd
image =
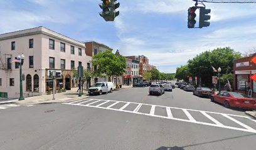
M92 103L83 104L83 103L86 103L89 101L92 101ZM98 102L102 102L102 103L100 103L96 106L91 105L91 104L98 103ZM108 103L110 103L109 106L107 105ZM120 103L121 104L124 103L121 108L119 108L119 109L112 108L116 104L120 104ZM210 112L210 111L200 111L200 110L195 110L195 109L174 108L174 107L169 107L169 106L158 106L158 105L151 105L151 104L132 103L132 102L125 102L125 101L113 101L113 100L105 100L105 99L83 99L80 101L73 101L72 103L63 103L63 104L86 106L86 107L90 107L90 108L109 109L109 110L114 110L114 111L122 111L122 112L126 112L126 113L142 114L142 115L152 116L152 117L157 117L157 118L173 119L173 120L184 121L184 122L188 122L188 123L204 124L204 125L208 125L208 126L215 126L218 128L227 128L227 129L234 129L234 130L238 130L238 131L246 131L249 133L256 133L256 124L255 124L254 119L252 119L248 116L240 116L240 115L235 115L235 114L223 114L223 113L216 113L216 112ZM104 104L106 104L107 106L103 107ZM125 108L129 107L130 104L137 104L137 106L136 106L136 108L134 108L131 111L125 110ZM151 106L151 109L148 113L141 113L141 112L139 112L139 110L142 108L142 106ZM156 115L156 109L157 109L156 106L160 107L160 108L165 108L167 116ZM173 111L171 111L172 109L181 110L181 112L183 112L187 116L188 119L174 118ZM196 118L197 116L196 116L196 114L192 115L191 114L192 111L203 114L201 116L205 117L205 119L208 119L212 123L197 121L197 118ZM189 112L191 112L191 113L189 113ZM214 118L213 114L222 116L227 120L231 120L234 126L224 125L223 123L221 123L221 121L218 121L216 118ZM255 124L255 126L253 128L251 126L248 126L246 123L242 123L232 117L246 119L246 121L245 121L246 123L251 122L250 124ZM240 126L240 128L237 128L237 124Z

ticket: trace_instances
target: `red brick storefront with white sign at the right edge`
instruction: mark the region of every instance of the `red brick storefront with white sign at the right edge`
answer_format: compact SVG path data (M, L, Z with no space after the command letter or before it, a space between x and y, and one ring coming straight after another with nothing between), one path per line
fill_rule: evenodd
M233 89L244 94L248 94L248 90L252 90L253 97L256 97L256 82L250 79L250 76L256 73L256 65L251 61L254 56L233 61Z

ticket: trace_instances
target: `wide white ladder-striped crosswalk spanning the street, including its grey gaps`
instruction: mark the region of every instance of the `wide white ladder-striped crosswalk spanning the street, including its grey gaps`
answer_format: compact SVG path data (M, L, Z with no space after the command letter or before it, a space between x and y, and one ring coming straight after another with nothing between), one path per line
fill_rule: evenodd
M175 108L144 103L113 101L105 99L82 99L71 103L62 103L74 106L108 109L125 113L142 114L156 118L173 119L188 123L215 126L249 133L256 133L256 120L248 116L224 114L195 109Z

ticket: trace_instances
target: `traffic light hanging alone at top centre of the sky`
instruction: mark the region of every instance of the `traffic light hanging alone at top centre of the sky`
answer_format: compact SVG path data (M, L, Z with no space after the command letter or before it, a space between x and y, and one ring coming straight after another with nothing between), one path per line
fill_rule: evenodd
M102 0L103 2L99 4L102 12L99 12L105 21L114 21L115 17L119 15L119 11L115 9L119 8L120 3L116 0Z

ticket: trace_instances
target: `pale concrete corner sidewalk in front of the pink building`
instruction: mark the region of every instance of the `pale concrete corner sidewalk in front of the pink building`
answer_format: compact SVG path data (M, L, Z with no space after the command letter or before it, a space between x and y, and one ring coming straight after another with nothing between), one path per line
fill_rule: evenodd
M83 95L78 97L78 88L72 88L72 90L67 90L65 93L56 93L55 99L53 100L53 94L41 95L25 98L23 101L16 101L17 104L41 104L41 103L62 103L65 101L80 100L87 98L87 91L83 90Z

